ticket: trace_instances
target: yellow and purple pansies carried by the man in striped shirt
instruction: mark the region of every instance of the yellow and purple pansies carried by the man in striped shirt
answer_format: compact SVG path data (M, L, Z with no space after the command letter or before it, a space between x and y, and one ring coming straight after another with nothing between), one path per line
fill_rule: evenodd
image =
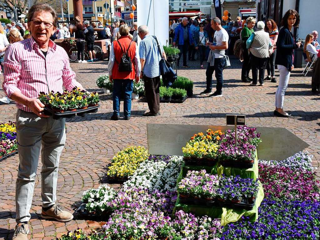
M75 87L72 91L63 93L51 92L45 94L40 92L39 100L55 112L76 111L98 105L100 99L98 93L88 93Z

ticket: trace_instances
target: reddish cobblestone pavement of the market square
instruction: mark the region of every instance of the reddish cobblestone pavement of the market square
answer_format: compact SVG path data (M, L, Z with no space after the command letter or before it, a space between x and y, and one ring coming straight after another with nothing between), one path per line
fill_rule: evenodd
M97 187L103 182L105 167L110 158L123 147L131 145L147 146L146 123L179 123L224 125L226 113L242 113L247 116L249 126L285 127L305 140L307 149L314 157L313 165L319 166L320 96L311 94L311 77L302 77L302 69L292 72L285 96L284 109L292 117L273 116L274 98L277 84L266 82L264 87L249 87L240 79L241 64L232 59L232 66L224 71L223 97L203 97L199 93L205 88L205 70L199 70L198 62L189 62L191 68L179 69L178 75L194 81L194 96L184 103L162 103L161 116L142 117L148 110L143 100L133 100L132 118L129 121L110 121L112 99L101 94L101 107L97 113L67 121L67 142L60 158L57 195L59 203L68 210L79 201L84 190ZM99 91L95 79L107 72L107 62L88 64L71 63L76 79L89 91ZM278 76L278 72L276 72ZM2 86L3 77L0 77ZM0 90L0 97L4 96ZM0 105L0 122L15 120L14 104ZM0 162L0 240L11 239L15 226L15 180L18 156ZM99 227L101 223L72 220L68 223L45 221L37 217L41 211L41 163L39 163L31 208L30 239L54 239L77 227ZM318 176L319 172L318 172ZM118 187L118 186L114 186Z

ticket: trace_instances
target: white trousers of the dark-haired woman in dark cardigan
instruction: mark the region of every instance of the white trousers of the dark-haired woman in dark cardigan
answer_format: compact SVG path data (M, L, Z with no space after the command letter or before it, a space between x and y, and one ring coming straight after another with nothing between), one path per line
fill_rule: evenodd
M283 65L277 65L280 73L279 85L276 91L276 108L283 108L284 94L288 87L290 71Z

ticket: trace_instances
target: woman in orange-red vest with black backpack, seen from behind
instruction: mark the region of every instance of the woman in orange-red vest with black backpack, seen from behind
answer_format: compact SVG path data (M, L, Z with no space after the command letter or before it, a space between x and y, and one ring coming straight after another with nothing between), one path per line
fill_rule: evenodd
M139 82L141 71L137 44L129 37L129 27L119 27L119 37L113 41L108 64L109 79L113 82L113 115L111 120L120 118L120 96L124 92L124 120L130 119L133 79Z

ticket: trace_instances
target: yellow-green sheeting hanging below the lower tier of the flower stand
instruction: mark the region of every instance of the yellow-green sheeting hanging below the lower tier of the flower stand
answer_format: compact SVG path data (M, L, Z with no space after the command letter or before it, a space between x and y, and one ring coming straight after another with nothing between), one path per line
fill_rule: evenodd
M207 215L212 218L221 218L221 225L225 226L230 222L236 222L241 219L242 216L250 218L250 221L254 222L258 219L258 208L264 198L264 192L262 184L259 181L259 190L256 198L256 203L252 210L230 209L221 207L208 207L189 204L180 204L179 197L176 205L173 209L173 215L176 211L183 210L185 212L191 212L196 216Z

